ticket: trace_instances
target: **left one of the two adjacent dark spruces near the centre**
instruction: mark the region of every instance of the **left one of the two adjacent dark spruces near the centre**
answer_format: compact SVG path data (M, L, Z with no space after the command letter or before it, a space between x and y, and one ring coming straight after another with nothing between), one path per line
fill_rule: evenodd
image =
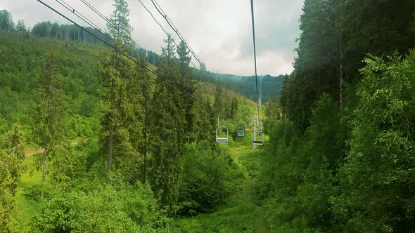
M162 207L172 214L177 211L186 119L181 92L162 80L167 79L177 85L180 78L174 39L170 34L165 43L151 100L151 182Z

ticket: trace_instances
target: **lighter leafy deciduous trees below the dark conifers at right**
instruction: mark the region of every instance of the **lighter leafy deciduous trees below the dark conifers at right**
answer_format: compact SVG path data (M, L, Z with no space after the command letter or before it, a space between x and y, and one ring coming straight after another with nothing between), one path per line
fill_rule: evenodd
M324 94L303 135L289 121L273 126L257 192L272 229L413 228L414 52L365 61L354 112Z

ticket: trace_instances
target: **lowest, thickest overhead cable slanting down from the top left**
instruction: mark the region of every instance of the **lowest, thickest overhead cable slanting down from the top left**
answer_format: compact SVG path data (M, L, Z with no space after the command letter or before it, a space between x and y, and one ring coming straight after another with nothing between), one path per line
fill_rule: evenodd
M196 101L199 101L198 98L195 98L193 95L191 95L190 93L188 93L186 90L183 90L182 88L180 88L180 86L175 86L172 82L170 82L169 80L163 78L162 76L159 76L157 73L155 73L153 70L149 69L147 67L146 64L142 64L141 62L134 60L134 58L132 58L130 55L128 55L127 53L120 51L115 45L110 44L108 41L103 40L102 38L100 38L99 36L96 36L95 34L93 34L92 32L90 32L88 29L82 27L81 25L77 24L77 22L71 20L70 18L68 18L67 16L63 15L63 13L60 13L59 11L57 11L55 8L49 6L48 4L44 3L44 1L41 0L37 0L40 4L46 6L47 8L49 8L51 11L57 13L58 15L60 15L61 17L65 18L66 20L68 20L69 22L72 22L72 24L76 25L77 27L83 29L85 32L91 34L91 36L94 36L96 39L100 40L103 42L103 44L106 44L107 46L113 48L115 51L117 51L118 53L124 55L126 58L128 58L129 60L132 60L132 62L136 63L136 65L139 65L141 67L143 67L143 69L146 69L148 72L151 72L152 74L154 74L155 76L158 76L160 79L162 79L163 81L165 81L167 84L169 84L170 86L177 88L179 91L181 91L182 93L185 93L186 95L189 95L191 98L195 99ZM101 32L102 33L102 32ZM210 109L212 112L215 112L214 109L212 109L209 105L206 105L205 102L200 102L201 104L205 105L205 107L208 107L208 109ZM215 112L216 113L216 112Z

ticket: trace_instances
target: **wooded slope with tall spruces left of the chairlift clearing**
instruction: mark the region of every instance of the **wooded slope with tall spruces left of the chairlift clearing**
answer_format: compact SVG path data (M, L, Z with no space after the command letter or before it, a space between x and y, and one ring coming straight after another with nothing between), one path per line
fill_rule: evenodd
M114 6L111 20L130 34L127 2ZM32 33L41 25L50 26ZM232 145L251 106L194 81L183 42L175 48L167 36L158 68L135 57L154 75L108 47L79 43L75 31L65 41L12 28L0 30L0 232L169 231L172 216L222 204L236 166L215 143L210 108ZM108 33L128 50L118 30ZM41 147L31 164L25 146ZM27 173L41 181L18 189ZM13 208L17 197L33 218Z

